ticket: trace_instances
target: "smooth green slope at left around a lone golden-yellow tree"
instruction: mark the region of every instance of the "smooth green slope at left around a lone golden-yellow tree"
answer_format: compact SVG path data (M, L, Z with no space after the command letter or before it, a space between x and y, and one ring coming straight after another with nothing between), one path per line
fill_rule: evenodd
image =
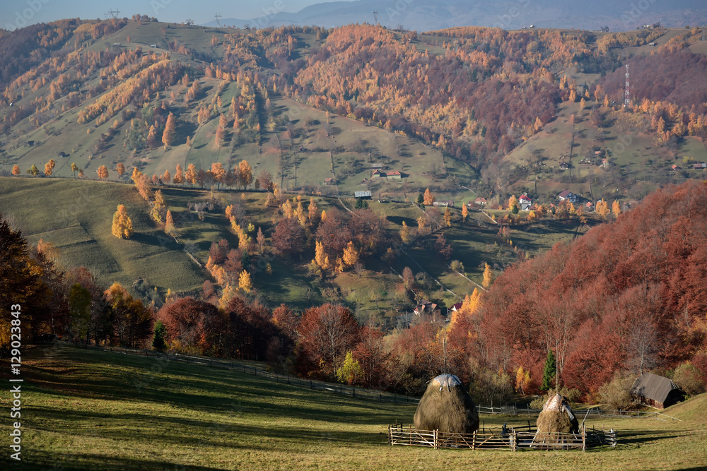
M124 204L135 230L130 240L110 232ZM133 186L102 181L0 178L0 210L15 217L31 244L52 242L67 266L95 268L100 280L129 286L143 278L166 291L194 290L198 267L149 218Z

